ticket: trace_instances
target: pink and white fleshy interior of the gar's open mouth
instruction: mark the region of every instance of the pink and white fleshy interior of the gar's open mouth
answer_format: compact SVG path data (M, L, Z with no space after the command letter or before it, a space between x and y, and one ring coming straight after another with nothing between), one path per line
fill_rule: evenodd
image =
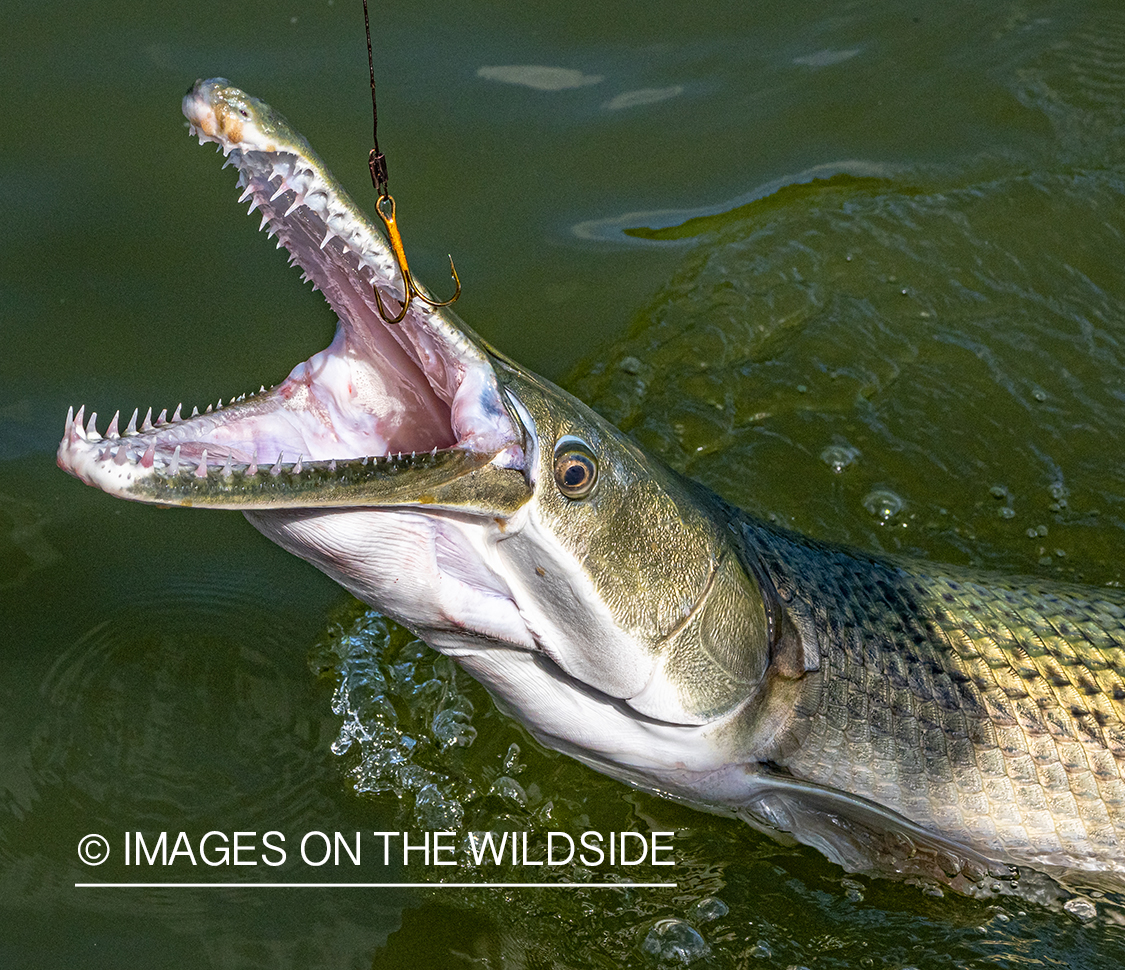
M253 168L270 171L272 165L266 161ZM421 321L424 311L412 306L400 323L386 323L375 305L370 267L300 204L284 177L250 172L243 168L243 198L253 198L251 209L263 210L263 227L324 293L340 317L335 339L266 393L189 419L181 420L179 410L171 420L145 419L141 433L127 433L102 460L118 458L123 448L129 460L147 452L151 467L154 458L168 459L177 449L182 460L199 461L206 452L209 464L256 465L421 453L457 444L454 412L466 414L469 407L454 401L464 367ZM384 304L397 308L395 294L380 286ZM115 419L110 439L116 425ZM136 430L135 415L130 430Z

